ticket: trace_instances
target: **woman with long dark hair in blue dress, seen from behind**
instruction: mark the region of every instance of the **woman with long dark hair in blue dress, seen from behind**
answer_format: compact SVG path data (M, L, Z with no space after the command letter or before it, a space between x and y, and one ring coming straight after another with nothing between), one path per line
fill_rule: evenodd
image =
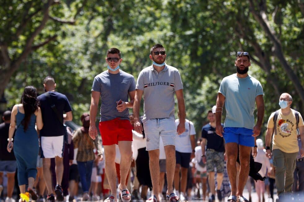
M42 116L37 100L37 90L33 86L26 86L21 97L21 104L14 105L11 112L11 125L8 134L7 150L14 154L17 161L17 174L20 193L25 193L25 185L32 200L37 200L33 190L36 178L37 156L39 151L38 134L35 129L42 129ZM17 127L16 127L17 126ZM15 140L12 139L16 129ZM13 144L14 141L14 144ZM19 200L20 202L22 199Z

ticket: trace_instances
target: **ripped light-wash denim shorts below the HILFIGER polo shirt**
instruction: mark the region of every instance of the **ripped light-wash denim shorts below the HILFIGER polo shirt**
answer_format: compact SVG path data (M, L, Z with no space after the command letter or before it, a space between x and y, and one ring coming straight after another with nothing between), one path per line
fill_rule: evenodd
M174 117L145 119L143 123L147 141L147 151L159 149L160 137L162 137L163 146L175 145L174 139L177 131Z

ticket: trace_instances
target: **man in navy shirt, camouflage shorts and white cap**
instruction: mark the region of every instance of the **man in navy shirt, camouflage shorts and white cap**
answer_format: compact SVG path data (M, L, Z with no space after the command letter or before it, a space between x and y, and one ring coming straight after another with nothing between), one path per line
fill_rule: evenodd
M202 160L207 166L207 173L209 175L208 182L212 195L209 201L215 201L215 181L214 181L214 168L217 168L217 198L219 201L222 200L221 196L221 184L223 181L224 172L224 139L223 137L216 134L215 131L215 109L216 106L212 107L212 110L208 111L209 123L204 125L202 128ZM205 149L207 142L207 149ZM205 152L206 151L206 152Z

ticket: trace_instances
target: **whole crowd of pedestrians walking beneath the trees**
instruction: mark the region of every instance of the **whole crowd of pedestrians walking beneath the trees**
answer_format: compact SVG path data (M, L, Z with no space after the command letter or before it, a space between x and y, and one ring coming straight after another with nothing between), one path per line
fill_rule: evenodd
M304 192L302 116L291 108L292 97L283 93L280 109L269 117L265 147L257 139L264 117L263 89L248 75L248 52L237 53L236 73L221 81L201 134L186 119L181 75L165 63L163 45L152 46L153 64L136 82L120 69L119 49L109 49L105 59L108 70L94 78L90 111L81 116L81 127L65 125L73 119L72 108L67 97L56 92L51 76L43 81L45 93L37 96L35 87L26 86L20 104L3 113L0 196L5 187L5 202L242 202L252 200L252 185L258 202L264 202L266 192L274 199L274 183L279 201L292 191Z

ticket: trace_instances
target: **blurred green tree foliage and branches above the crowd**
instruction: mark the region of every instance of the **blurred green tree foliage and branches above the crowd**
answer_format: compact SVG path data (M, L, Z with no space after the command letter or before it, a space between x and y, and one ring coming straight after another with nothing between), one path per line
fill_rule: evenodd
M122 51L121 68L137 78L151 64L150 47L161 43L166 62L181 72L197 133L222 78L235 72L239 50L251 54L250 74L264 88L264 123L282 92L303 114L301 1L14 0L2 1L0 19L0 94L5 89L9 106L25 85L42 93L52 75L78 122L89 110L94 76L106 70L108 48Z

